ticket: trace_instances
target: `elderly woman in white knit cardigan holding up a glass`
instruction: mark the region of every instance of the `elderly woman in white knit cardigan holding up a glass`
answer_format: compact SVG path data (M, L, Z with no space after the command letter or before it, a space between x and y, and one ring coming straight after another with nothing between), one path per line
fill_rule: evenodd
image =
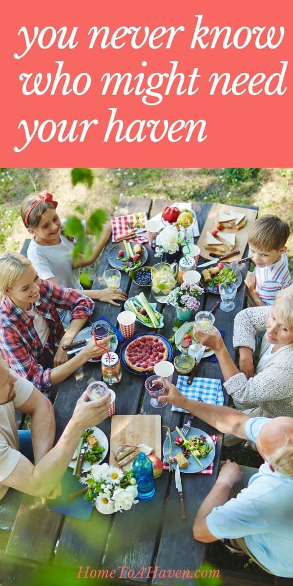
M260 360L254 372L255 335L265 332ZM293 285L277 294L274 305L241 311L234 321L234 347L239 349L237 369L217 330L195 336L214 350L224 387L237 409L257 417L293 417Z

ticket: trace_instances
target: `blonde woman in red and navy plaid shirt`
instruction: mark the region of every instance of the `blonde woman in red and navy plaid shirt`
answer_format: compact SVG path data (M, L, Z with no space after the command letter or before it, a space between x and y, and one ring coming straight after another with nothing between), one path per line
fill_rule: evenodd
M40 390L49 390L87 360L98 357L91 338L77 356L67 360L62 346L70 344L94 311L86 295L43 281L28 258L18 253L0 255L0 349L19 376ZM57 309L71 311L66 332ZM108 347L110 338L103 340Z

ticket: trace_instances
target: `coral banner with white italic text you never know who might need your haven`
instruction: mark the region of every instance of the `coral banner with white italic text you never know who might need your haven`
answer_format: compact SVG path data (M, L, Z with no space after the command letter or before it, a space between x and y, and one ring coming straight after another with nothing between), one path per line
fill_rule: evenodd
M2 166L293 166L291 2L11 1Z

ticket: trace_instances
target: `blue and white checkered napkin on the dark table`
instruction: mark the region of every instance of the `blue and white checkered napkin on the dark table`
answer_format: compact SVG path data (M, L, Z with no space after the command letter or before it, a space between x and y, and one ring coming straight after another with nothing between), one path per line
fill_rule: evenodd
M187 384L188 376L179 376L177 388L188 399L203 401L213 405L224 404L222 384L219 379L193 379L192 384ZM188 413L185 409L172 405L172 411Z

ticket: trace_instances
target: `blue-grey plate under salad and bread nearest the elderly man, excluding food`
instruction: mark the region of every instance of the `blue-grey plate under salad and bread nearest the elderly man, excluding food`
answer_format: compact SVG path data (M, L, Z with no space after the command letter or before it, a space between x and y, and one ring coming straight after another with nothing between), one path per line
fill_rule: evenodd
M182 432L182 430L183 430L183 428L180 428L181 432ZM176 430L172 431L172 434L171 434L172 442L174 442L176 435L178 435L177 431ZM192 455L190 455L188 458L188 461L190 462L188 468L180 468L180 472L185 472L187 474L194 474L195 472L202 472L203 470L208 468L208 466L210 466L210 464L212 464L214 456L216 455L216 448L214 446L214 442L213 442L212 438L210 437L210 435L207 435L205 431L199 430L197 427L192 427L187 434L186 440L190 440L191 438L198 438L200 435L205 435L207 445L212 446L212 449L209 452L209 454L207 454L204 458L199 458L200 462L202 462L203 468L202 468L202 466L200 466L198 464L198 462L196 462L196 459L193 458ZM182 452L182 449L180 448L179 445L172 443L172 458L173 458L173 456L176 456L178 454L178 452ZM166 460L168 459L169 454L170 454L169 437L167 437L163 443L163 456ZM177 464L177 462L175 461L175 463L172 464L172 468L175 469L176 464Z

